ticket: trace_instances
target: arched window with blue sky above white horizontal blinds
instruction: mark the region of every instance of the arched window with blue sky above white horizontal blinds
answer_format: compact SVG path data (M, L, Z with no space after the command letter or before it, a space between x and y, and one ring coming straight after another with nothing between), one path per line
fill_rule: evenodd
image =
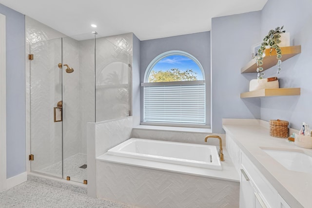
M199 61L183 51L168 51L148 65L143 122L206 124L205 75Z

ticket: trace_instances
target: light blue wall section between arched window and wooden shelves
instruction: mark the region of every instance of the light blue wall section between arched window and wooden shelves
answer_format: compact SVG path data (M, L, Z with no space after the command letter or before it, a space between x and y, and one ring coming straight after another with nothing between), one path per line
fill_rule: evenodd
M212 130L221 133L222 118L260 118L258 98L241 99L254 74L240 74L260 42L261 12L212 19Z

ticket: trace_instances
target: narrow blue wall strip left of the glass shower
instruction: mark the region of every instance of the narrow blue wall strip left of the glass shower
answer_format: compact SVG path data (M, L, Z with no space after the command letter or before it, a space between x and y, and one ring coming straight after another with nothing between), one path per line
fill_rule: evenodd
M0 4L6 17L7 178L26 171L25 16Z

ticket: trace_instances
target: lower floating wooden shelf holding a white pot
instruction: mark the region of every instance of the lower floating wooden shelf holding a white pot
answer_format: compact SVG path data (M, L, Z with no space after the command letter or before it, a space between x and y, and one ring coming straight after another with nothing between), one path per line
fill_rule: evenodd
M275 89L255 90L251 92L241 93L240 98L287 96L287 95L300 95L300 88L275 88Z

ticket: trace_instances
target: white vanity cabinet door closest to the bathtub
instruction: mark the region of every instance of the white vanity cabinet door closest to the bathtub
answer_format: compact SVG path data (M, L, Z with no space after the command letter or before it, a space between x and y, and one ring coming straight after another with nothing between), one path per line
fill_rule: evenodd
M253 208L254 188L245 170L240 173L239 208Z

